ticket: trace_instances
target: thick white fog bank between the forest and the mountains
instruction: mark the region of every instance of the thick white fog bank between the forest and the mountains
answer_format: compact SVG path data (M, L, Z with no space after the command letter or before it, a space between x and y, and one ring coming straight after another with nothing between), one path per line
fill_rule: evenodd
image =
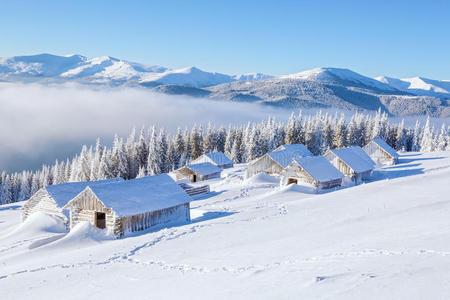
M0 170L36 169L78 153L81 144L133 126L242 124L268 116L286 119L290 111L254 104L156 94L137 88L0 83Z

